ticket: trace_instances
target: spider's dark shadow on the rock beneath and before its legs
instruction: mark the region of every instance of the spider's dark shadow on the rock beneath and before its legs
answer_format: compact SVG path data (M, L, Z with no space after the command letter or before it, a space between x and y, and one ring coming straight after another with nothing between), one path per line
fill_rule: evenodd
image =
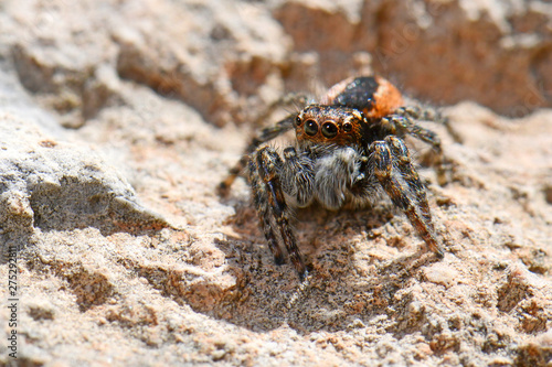
M255 211L248 202L238 202L227 220L236 237L217 242L237 285L210 313L254 331L287 323L299 333L346 330L359 320L365 324L389 313L396 303L394 294L433 260L421 253L386 260L369 255L373 242L365 234L386 225L392 213L389 206L337 213L314 206L297 212L296 234L311 269L301 284L289 261L274 263ZM359 246L368 248L361 259Z

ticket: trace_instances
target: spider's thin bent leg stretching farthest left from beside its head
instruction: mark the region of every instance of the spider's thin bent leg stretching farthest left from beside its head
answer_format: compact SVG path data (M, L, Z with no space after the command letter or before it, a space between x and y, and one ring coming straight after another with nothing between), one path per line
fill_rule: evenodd
M229 194L230 187L247 165L250 154L253 153L262 143L289 131L294 127L294 119L295 115L289 115L284 120L276 122L274 126L263 129L258 136L252 139L240 161L237 161L237 163L229 170L226 177L219 184L216 188L219 195L226 196Z

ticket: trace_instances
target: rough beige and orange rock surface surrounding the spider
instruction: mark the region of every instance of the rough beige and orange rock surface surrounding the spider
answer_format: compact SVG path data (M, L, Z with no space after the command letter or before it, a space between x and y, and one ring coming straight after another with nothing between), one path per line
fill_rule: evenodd
M480 3L0 3L0 363L550 366L552 8ZM300 285L215 186L269 104L372 71L450 118L446 183L411 142L448 251L308 208Z

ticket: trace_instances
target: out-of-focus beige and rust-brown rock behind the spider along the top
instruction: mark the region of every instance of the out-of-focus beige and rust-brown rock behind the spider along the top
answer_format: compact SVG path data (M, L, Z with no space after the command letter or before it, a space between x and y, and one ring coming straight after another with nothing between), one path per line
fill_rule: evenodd
M285 91L376 72L435 105L521 117L552 104L548 1L11 1L1 57L78 126L114 104L114 79L182 100L223 126ZM81 120L81 122L77 122Z

